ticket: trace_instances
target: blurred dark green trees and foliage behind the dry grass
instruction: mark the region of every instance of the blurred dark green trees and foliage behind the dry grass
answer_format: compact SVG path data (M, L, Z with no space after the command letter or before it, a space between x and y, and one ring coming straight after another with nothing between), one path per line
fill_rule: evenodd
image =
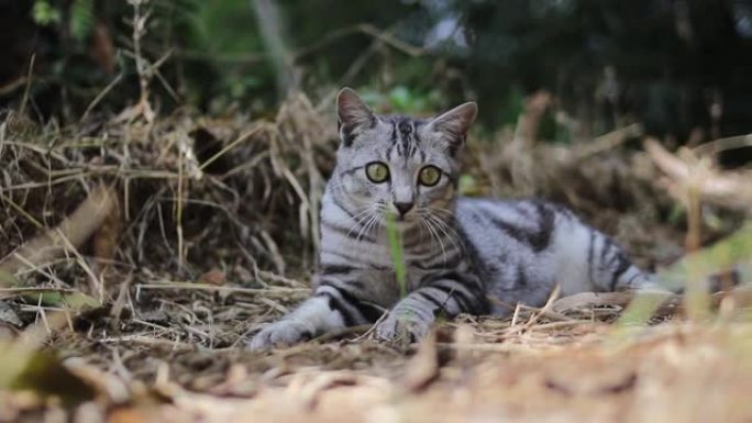
M383 111L477 98L491 129L513 124L527 96L548 91L559 114L578 123L549 113L541 135L560 140L632 121L681 142L752 130L749 0L151 0L146 8L145 54L170 53L154 87L163 111L189 103L264 112L285 96L281 86L324 98L353 85ZM32 52L32 100L44 119L80 115L114 74L122 81L98 110L133 101L125 2L0 0L0 12L9 34L0 41L0 102L19 101L13 84Z

